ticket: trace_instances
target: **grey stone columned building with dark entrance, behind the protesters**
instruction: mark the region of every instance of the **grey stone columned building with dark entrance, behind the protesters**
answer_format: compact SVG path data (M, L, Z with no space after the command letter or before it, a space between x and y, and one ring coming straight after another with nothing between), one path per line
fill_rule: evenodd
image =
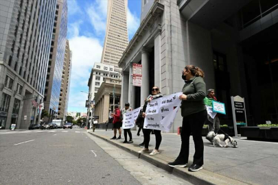
M278 5L262 0L142 0L141 24L119 61L121 106L138 108L159 86L163 95L181 92L187 64L205 71L233 125L231 96L246 99L248 125L278 122ZM253 12L252 14L250 12ZM275 34L276 33L276 34ZM132 63L142 64L142 86L132 86ZM171 132L181 126L177 114Z

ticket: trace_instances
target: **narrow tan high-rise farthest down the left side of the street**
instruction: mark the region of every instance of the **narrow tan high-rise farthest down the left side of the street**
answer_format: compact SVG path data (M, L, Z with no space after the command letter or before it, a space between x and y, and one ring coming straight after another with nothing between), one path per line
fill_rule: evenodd
M62 83L60 90L58 116L57 119L66 121L67 105L69 101L69 86L71 80L71 51L69 49L69 40L66 42L64 66L62 68Z

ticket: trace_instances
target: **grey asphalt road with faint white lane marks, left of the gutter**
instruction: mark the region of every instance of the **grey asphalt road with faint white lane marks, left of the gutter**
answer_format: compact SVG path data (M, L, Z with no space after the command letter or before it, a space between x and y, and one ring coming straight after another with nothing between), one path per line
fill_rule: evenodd
M0 184L140 184L85 130L0 132Z

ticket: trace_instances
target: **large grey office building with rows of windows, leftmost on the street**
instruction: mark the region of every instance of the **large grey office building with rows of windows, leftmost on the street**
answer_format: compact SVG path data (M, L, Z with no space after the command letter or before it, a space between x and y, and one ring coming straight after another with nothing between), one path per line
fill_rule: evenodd
M0 127L24 129L40 121L56 0L1 0L0 7Z

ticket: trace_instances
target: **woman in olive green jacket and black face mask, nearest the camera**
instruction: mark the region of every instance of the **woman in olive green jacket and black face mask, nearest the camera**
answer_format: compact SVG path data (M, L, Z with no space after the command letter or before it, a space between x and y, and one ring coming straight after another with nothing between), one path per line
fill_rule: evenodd
M193 65L185 66L182 78L185 80L181 103L183 129L181 131L181 151L174 160L169 162L170 167L186 167L189 157L189 136L192 133L195 153L193 164L188 171L199 171L204 164L204 143L202 142L202 126L207 119L207 110L204 104L206 85L203 80L204 72Z

